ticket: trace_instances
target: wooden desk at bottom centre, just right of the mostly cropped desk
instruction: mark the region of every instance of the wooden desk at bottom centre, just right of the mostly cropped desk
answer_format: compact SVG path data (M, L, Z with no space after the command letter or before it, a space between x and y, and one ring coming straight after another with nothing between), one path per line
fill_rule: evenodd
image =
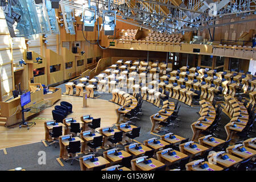
M150 160L152 161L150 164L145 164L143 162L136 164L136 159L133 159L131 160L131 167L133 171L152 171L156 168L164 166L164 163L156 159L150 158Z

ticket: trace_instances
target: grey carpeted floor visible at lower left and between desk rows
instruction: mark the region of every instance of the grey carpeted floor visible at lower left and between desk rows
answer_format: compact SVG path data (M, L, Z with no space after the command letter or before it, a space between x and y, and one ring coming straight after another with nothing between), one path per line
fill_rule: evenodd
M57 86L61 88L64 92L65 86L61 84ZM75 92L75 90L74 90ZM112 98L112 94L108 93L97 93L101 99L110 100ZM72 97L72 96L71 96ZM176 100L170 99L170 101L176 102ZM200 107L190 107L183 103L181 103L180 112L178 118L180 122L177 124L179 127L169 127L168 130L174 134L180 135L184 138L192 138L192 130L191 130L191 123L195 122L197 118L200 117L197 112L199 111ZM142 112L143 115L140 117L140 121L135 121L136 126L141 126L141 135L139 138L136 138L139 142L143 142L146 139L156 137L155 135L150 134L151 129L151 121L150 115L157 113L160 108L143 101L142 105ZM226 139L226 133L224 130L224 126L228 123L230 119L225 114L222 114L222 119L220 122L220 126L218 127L218 138ZM118 147L123 148L123 146L118 145ZM8 170L13 169L16 167L22 167L26 170L80 170L79 162L74 161L73 166L70 165L70 161L65 163L63 160L64 167L61 167L60 164L57 162L56 158L59 158L59 146L57 148L54 146L45 147L42 142L27 144L18 147L11 147L7 148L7 155L3 154L3 151L0 150L0 170ZM46 164L39 164L38 160L40 156L38 155L39 151L46 152ZM102 152L102 150L100 150Z

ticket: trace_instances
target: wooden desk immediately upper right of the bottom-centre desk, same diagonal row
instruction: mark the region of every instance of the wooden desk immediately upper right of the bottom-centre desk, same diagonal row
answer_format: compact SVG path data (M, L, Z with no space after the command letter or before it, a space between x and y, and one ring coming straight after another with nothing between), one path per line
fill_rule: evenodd
M171 165L179 161L180 159L187 158L188 155L183 154L182 152L176 151L176 155L162 154L162 151L156 152L156 157L158 160L164 164Z

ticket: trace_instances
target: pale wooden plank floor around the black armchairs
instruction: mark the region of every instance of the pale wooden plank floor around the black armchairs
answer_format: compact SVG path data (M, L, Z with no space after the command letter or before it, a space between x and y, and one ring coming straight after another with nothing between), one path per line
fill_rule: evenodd
M60 105L61 101L67 101L73 105L73 113L69 114L68 117L79 120L81 115L92 114L93 118L101 118L101 127L111 126L117 121L115 109L119 106L112 102L101 100L100 98L88 98L88 107L82 108L82 97L63 95L61 100L56 102L55 105ZM27 130L27 127L20 129L19 127L7 128L0 126L0 149L43 140L45 134L43 123L52 119L52 110L55 105L35 115L31 121L35 121L36 125L32 126L30 130Z

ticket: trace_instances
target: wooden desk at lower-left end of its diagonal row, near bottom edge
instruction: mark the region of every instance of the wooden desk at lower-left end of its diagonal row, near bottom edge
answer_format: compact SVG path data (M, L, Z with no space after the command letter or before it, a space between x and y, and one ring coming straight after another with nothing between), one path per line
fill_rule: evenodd
M94 167L99 167L106 165L106 167L109 166L110 162L103 158L102 156L98 156L98 161L91 162L90 160L82 160L82 158L79 158L80 160L80 168L81 171L92 171Z

